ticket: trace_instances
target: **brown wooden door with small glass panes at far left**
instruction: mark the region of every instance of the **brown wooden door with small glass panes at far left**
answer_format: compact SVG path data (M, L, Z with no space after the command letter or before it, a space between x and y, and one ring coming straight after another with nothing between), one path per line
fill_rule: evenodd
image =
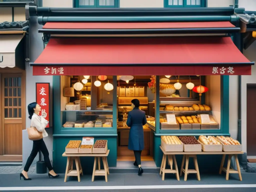
M25 71L0 73L0 161L22 161L25 128Z

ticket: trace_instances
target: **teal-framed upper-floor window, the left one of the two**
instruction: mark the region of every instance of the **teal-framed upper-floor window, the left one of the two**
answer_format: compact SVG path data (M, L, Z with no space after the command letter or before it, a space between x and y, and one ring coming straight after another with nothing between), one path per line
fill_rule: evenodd
M76 0L75 7L111 8L118 7L118 0Z

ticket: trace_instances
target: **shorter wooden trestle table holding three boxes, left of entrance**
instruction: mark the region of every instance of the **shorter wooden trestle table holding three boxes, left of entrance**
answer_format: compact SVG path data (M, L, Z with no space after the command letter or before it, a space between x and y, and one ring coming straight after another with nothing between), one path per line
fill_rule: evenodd
M108 182L109 175L109 166L107 161L107 156L109 155L109 150L106 154L66 154L65 152L62 154L62 157L67 157L67 167L64 182L67 182L67 176L77 176L78 182L80 182L80 174L83 175L83 170L80 162L80 157L94 157L93 164L93 172L92 172L92 181L94 181L94 176L105 176L106 182ZM104 169L100 169L100 158L102 158L102 162L104 165ZM98 159L98 169L96 170ZM73 170L73 161L76 163L76 170Z

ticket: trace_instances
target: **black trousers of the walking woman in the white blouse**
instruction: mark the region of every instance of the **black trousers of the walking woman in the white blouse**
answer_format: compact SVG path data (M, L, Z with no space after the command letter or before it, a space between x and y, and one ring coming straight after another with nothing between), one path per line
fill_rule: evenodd
M26 165L24 167L24 171L28 172L30 165L33 163L33 161L39 151L41 151L42 154L44 155L44 161L45 161L45 164L46 164L47 168L49 169L49 171L52 170L51 162L49 159L48 149L45 145L44 140L40 139L40 140L33 141L33 148L28 157Z

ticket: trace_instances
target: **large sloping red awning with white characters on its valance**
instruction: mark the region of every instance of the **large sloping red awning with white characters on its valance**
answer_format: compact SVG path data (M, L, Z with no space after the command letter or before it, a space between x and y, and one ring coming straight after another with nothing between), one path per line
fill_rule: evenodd
M33 75L250 75L230 37L51 38Z

